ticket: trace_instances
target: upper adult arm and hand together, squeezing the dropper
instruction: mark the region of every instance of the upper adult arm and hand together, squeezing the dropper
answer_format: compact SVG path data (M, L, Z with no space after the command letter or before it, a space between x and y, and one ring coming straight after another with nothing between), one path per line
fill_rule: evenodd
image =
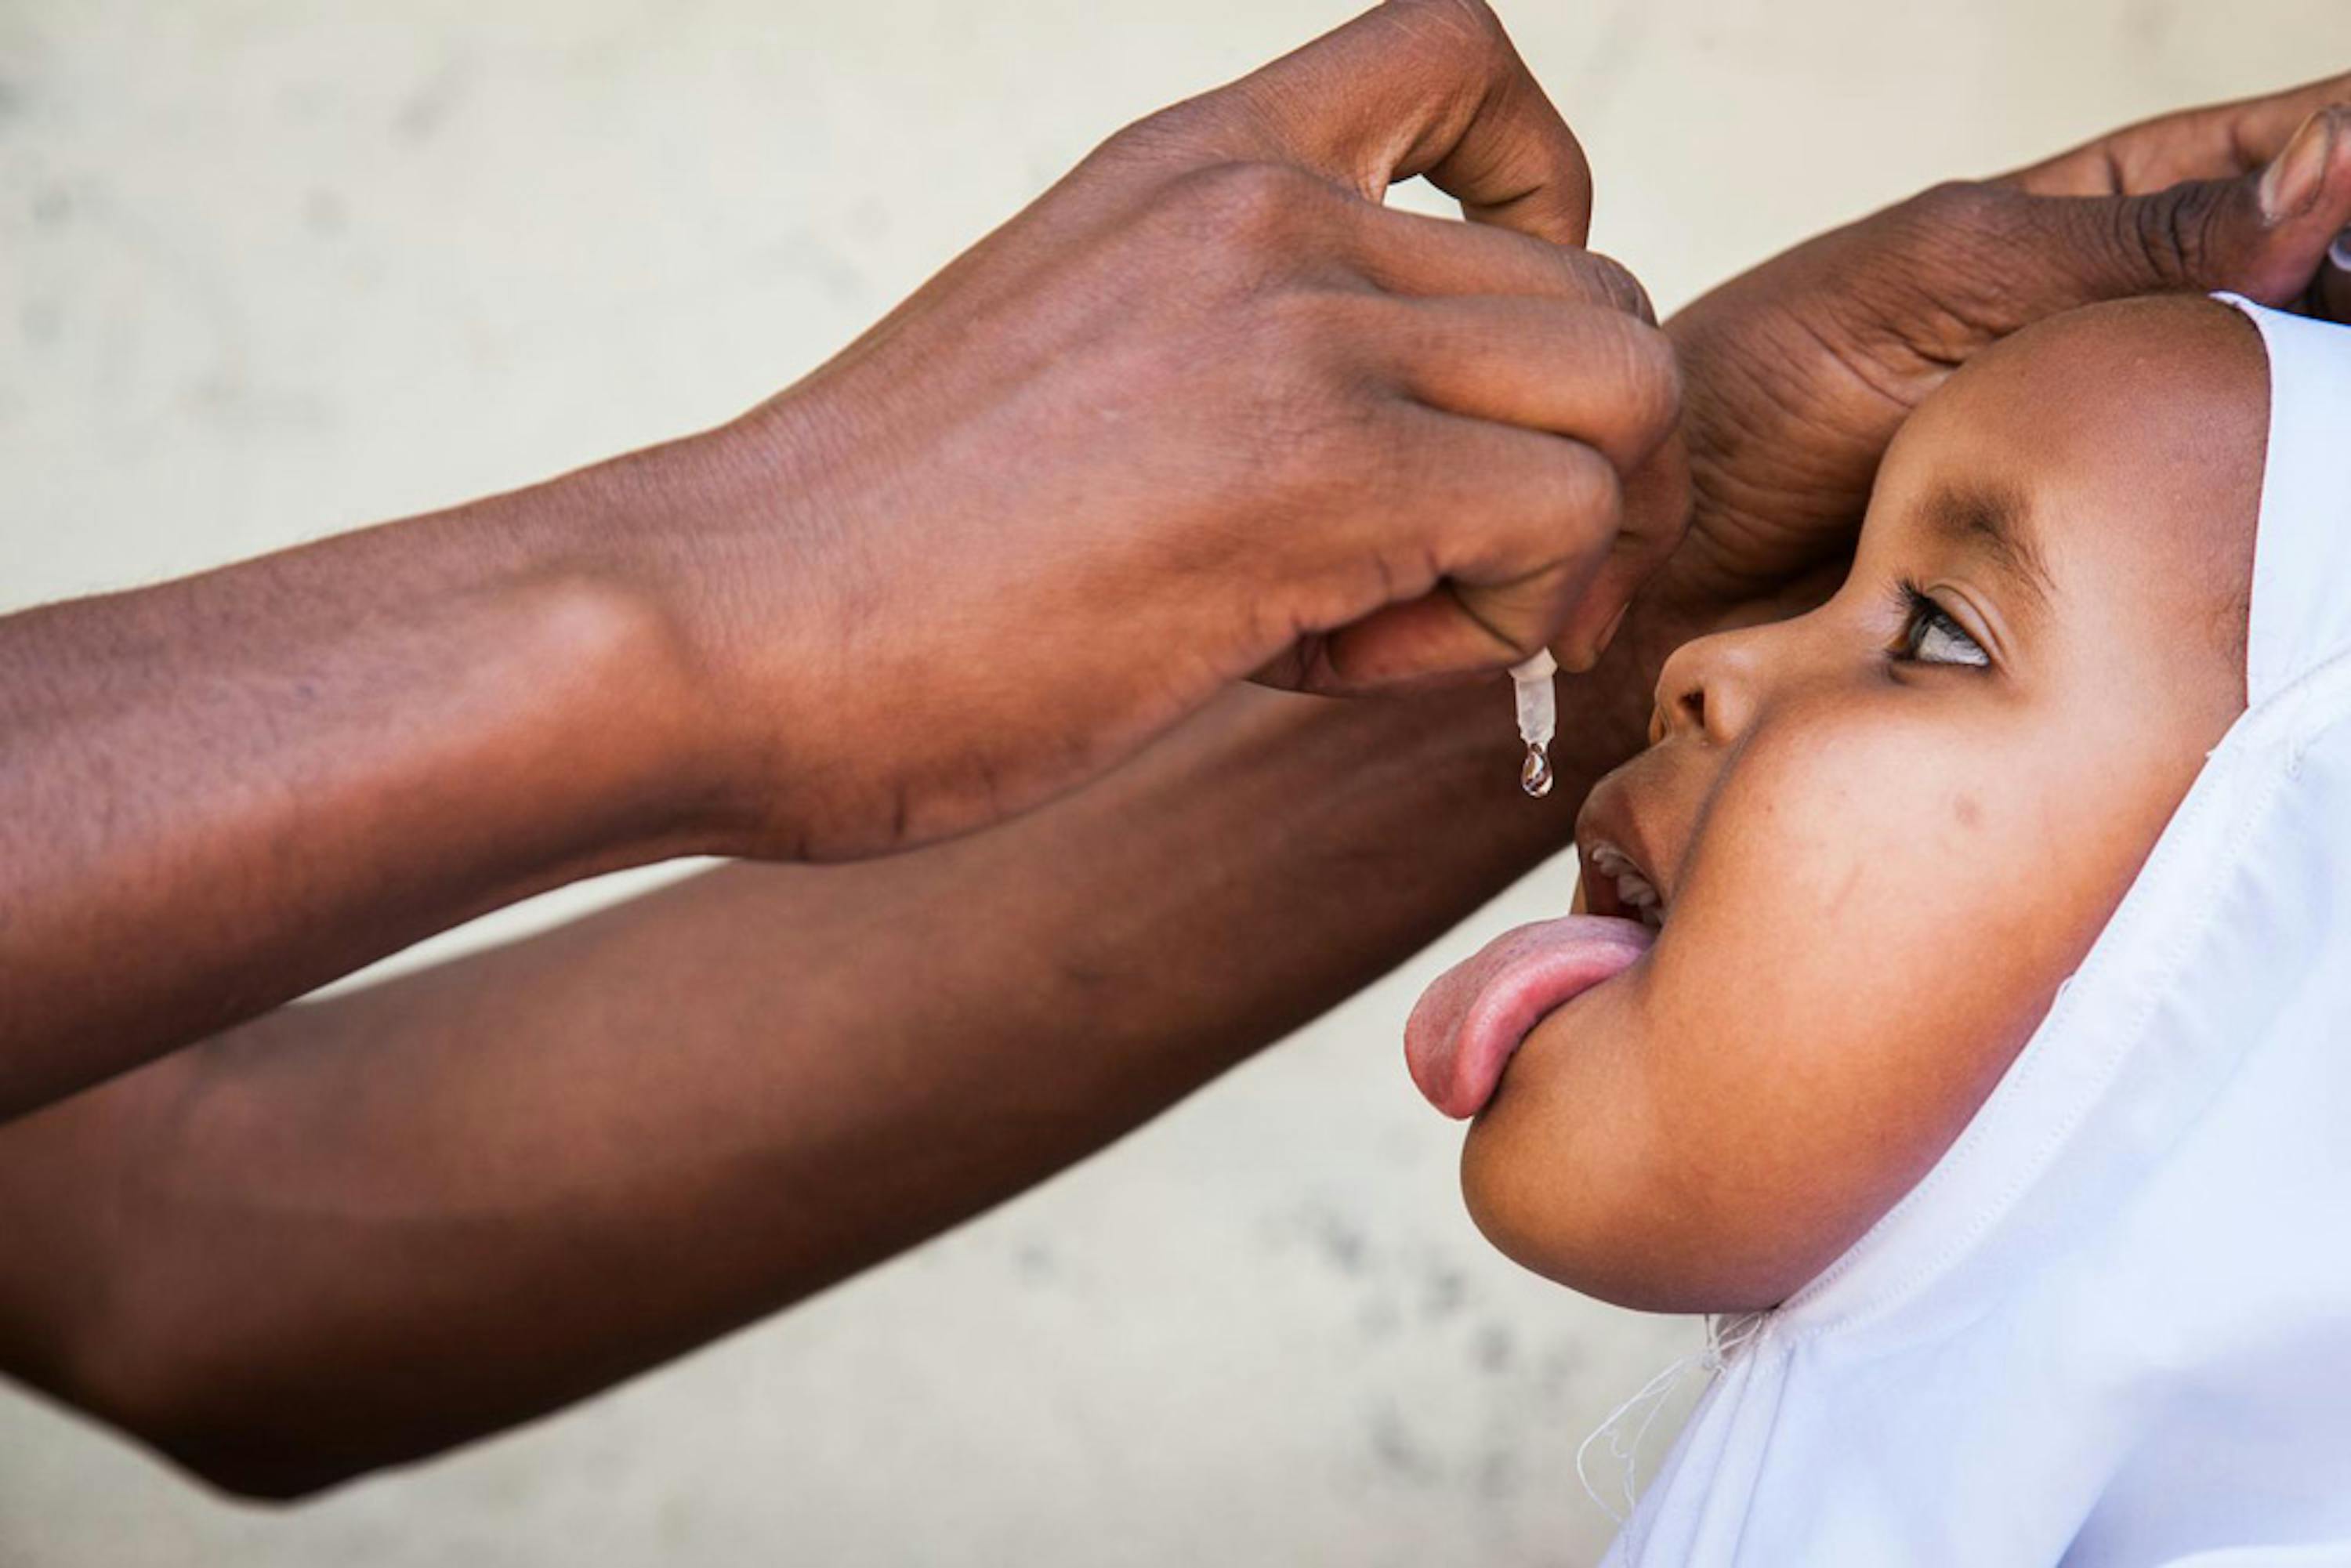
M0 625L0 1117L581 870L985 827L1248 675L1589 663L1681 473L1587 207L1500 24L1394 0L722 437Z

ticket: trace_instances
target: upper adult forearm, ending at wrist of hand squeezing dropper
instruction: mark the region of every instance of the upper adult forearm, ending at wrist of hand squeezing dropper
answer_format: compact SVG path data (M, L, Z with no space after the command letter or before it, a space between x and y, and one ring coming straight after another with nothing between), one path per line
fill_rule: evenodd
M656 449L0 621L0 1119L691 846L696 689L623 545L722 475Z

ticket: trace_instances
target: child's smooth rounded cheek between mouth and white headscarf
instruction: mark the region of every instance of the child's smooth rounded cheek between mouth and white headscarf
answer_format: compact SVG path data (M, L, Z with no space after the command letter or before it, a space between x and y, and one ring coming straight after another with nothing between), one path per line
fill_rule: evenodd
M1674 1187L1749 1286L1794 1288L1893 1206L2062 976L2017 945L2045 889L1994 846L2024 816L1998 766L1951 724L1841 710L1756 726L1714 790L1646 1053Z

